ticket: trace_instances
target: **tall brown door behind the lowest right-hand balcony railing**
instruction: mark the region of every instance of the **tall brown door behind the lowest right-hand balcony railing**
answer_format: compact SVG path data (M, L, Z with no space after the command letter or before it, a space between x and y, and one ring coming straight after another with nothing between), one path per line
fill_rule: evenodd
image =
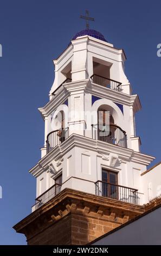
M102 196L118 199L118 174L102 169Z

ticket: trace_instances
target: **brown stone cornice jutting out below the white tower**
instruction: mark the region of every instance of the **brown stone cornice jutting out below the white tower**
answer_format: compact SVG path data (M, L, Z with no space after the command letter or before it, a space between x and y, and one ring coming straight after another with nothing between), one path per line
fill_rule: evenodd
M87 210L88 208L91 208L92 211ZM106 216L107 209L110 210L110 214L113 211L117 211L119 217L122 216L122 218L124 218L124 216L127 216L127 214L140 215L145 211L143 206L141 205L134 205L122 202L120 200L100 197L96 196L95 194L73 190L72 188L65 188L59 194L49 200L46 204L42 205L36 211L32 212L22 221L14 225L13 228L19 233L25 233L26 231L26 233L28 233L29 231L32 234L31 227L35 228L34 233L40 227L42 229L44 222L47 223L46 227L49 227L49 221L51 220L51 217L51 223L53 223L53 221L56 222L60 220L60 218L66 216L69 213L78 214L79 216L80 214L82 214L83 216L94 216L96 218L99 217L101 220L104 219L104 217ZM104 214L100 216L98 210L101 210L102 212L104 212ZM115 217L115 214L111 215L110 221L114 222ZM106 220L108 221L107 217ZM36 222L38 222L37 225L35 225Z

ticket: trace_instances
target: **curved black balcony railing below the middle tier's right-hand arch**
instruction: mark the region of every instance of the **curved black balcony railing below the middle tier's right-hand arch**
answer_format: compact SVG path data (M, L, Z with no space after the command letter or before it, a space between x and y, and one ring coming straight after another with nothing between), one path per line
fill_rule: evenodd
M127 136L118 125L93 125L92 124L92 138L99 141L118 145L127 148Z

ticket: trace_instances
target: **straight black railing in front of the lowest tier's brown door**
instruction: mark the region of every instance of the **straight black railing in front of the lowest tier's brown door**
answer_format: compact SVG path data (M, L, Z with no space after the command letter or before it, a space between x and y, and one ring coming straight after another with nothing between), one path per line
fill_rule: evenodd
M131 187L124 187L98 180L95 182L95 194L126 203L139 204L138 190Z

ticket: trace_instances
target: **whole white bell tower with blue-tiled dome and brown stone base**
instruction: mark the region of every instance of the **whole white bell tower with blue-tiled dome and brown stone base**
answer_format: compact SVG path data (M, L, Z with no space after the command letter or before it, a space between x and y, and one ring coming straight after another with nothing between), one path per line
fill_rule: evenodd
M124 72L123 49L93 29L54 60L32 213L15 225L29 245L85 245L141 214L141 184L154 157L140 152L141 105Z

